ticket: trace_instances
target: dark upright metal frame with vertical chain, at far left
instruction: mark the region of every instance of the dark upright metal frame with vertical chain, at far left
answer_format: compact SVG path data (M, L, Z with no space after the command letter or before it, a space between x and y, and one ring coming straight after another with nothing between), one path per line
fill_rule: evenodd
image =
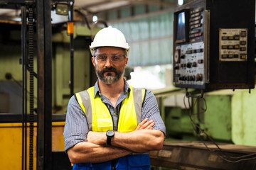
M37 128L37 168L52 169L52 42L51 42L51 4L47 0L11 0L0 3L0 8L21 8L21 42L23 64L23 106L22 106L22 169L26 169L26 72L27 65L27 31L26 12L28 6L34 8L33 19L36 20L37 55L38 55L38 128ZM33 107L33 106L32 106ZM25 152L25 153L24 153ZM33 166L30 167L33 169Z

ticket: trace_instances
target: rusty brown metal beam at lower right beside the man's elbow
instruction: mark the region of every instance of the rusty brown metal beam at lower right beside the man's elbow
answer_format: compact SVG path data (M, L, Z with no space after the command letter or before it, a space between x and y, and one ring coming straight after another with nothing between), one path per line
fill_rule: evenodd
M160 151L149 152L151 165L171 169L256 169L256 147L206 142L164 142Z

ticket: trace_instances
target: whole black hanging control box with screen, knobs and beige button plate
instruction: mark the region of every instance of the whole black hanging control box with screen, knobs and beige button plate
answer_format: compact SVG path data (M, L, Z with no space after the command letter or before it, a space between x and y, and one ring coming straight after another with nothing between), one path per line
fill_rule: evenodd
M175 86L253 89L255 1L195 0L174 13Z

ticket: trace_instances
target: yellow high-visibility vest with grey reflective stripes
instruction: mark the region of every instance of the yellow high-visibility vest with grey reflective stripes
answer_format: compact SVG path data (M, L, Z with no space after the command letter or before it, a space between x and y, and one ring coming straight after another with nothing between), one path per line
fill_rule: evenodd
M130 86L131 91L127 98L122 101L118 119L118 132L131 132L141 122L142 102L145 96L145 89L136 89ZM106 132L113 130L113 121L110 111L100 96L94 98L94 86L75 94L78 103L84 111L89 130Z

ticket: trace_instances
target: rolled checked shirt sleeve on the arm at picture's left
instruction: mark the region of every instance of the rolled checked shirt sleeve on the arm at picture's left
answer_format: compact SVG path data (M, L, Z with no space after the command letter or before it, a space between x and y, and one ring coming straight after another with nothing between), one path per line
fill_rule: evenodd
M68 102L67 115L64 128L65 152L79 142L86 142L88 124L85 113L82 111L75 96Z

